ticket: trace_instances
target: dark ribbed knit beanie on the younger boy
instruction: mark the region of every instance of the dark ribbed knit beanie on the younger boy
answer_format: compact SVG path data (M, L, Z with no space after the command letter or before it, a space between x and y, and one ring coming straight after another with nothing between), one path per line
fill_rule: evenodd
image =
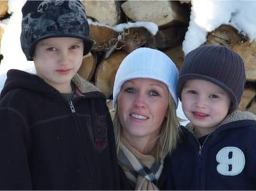
M225 46L200 46L184 58L180 69L179 97L185 82L191 79L207 80L223 88L231 98L231 113L238 108L244 92L244 62L236 52Z

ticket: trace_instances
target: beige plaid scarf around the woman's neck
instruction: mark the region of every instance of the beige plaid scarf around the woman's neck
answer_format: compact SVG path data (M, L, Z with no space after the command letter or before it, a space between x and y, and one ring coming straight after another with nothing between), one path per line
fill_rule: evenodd
M141 154L124 139L120 144L118 158L134 190L159 190L156 185L162 173L162 159L156 161L152 155Z

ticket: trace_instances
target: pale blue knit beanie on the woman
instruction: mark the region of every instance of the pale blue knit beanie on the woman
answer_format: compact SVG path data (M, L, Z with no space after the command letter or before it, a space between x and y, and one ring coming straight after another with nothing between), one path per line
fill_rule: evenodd
M117 69L113 87L113 105L115 107L118 94L127 80L150 78L168 87L177 108L178 77L177 67L165 53L152 48L137 48L124 58Z

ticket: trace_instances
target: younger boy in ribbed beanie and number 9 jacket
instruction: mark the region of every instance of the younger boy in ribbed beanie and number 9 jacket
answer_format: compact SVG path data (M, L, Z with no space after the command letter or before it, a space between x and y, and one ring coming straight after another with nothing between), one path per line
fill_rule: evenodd
M189 52L178 85L190 121L171 153L167 190L256 190L256 116L238 111L246 75L225 46Z

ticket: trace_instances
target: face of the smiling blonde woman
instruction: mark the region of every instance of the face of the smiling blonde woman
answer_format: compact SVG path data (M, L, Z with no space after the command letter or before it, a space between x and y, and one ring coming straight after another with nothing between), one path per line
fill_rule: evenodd
M167 116L169 90L157 80L128 80L119 92L117 104L122 136L130 143L150 143L158 137Z

